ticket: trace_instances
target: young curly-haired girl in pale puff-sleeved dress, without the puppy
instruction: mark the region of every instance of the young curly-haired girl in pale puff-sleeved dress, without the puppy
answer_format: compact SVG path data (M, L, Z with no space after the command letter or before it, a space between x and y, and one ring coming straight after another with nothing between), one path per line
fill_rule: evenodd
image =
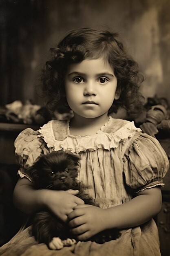
M20 179L14 203L31 214L44 207L68 222L79 242L49 250L20 230L0 255L159 256L157 226L163 177L168 159L159 142L134 126L114 119L122 106L140 110L137 63L124 51L118 34L100 29L76 29L51 49L43 87L49 109L63 104L73 110L70 121L52 120L40 130L28 128L15 141ZM77 191L35 190L26 170L41 154L69 150L80 157L78 180L100 207L85 205ZM121 236L99 245L86 241L99 231L118 228ZM53 248L55 249L55 241Z

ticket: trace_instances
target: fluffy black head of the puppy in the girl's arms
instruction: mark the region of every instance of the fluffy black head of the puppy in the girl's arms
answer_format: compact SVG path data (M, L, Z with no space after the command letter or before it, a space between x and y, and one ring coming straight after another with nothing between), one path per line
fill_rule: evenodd
M67 190L76 183L79 157L72 153L56 151L42 155L28 174L37 189Z

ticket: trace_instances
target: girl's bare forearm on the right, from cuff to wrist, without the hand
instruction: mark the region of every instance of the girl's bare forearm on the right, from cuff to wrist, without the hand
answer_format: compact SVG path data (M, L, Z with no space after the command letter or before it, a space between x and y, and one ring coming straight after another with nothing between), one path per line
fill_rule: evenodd
M116 228L135 227L145 223L157 215L161 210L162 195L159 187L145 189L137 196L124 204L118 205L113 210L113 226ZM107 211L108 217L112 215L111 209ZM108 226L111 225L110 219Z

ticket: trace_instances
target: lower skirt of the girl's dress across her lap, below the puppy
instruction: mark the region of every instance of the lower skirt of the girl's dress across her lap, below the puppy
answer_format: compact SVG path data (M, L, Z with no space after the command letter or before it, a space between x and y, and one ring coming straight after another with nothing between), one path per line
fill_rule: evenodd
M121 236L102 245L95 242L78 242L61 250L49 250L37 244L30 236L31 228L19 231L7 244L0 248L1 256L161 256L155 222L150 220L141 227L121 231ZM148 229L150 232L148 232ZM155 239L150 239L155 236Z

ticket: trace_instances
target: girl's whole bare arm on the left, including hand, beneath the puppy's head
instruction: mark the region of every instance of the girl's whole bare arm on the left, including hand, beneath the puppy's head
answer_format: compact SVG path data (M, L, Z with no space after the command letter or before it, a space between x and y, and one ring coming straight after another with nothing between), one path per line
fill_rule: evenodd
M20 178L13 191L15 207L24 213L31 214L34 211L48 208L63 221L77 204L84 201L77 198L78 191L53 191L49 189L34 189L33 183L26 178Z

